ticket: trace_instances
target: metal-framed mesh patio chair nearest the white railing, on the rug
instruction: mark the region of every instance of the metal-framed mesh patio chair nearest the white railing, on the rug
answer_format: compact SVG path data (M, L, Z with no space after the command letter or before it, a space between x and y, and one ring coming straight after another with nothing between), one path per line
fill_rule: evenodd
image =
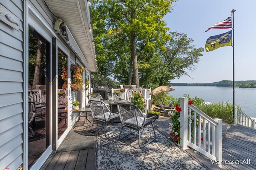
M155 132L155 128L153 125L153 122L156 120L156 116L145 117L144 114L142 113L142 111L140 111L140 109L138 108L138 106L133 105L133 104L118 103L117 109L118 109L118 113L119 113L120 120L122 123L122 129L121 129L121 132L119 135L120 139L123 139L124 137L126 137L130 133L132 133L132 132L130 132L127 135L125 135L124 137L120 137L124 127L128 127L130 129L138 131L138 135L139 135L138 143L139 143L140 148L144 148L146 145L148 145L149 143L151 143L152 141L154 141L156 139L156 132ZM148 141L148 143L146 143L145 145L140 146L140 130L150 124L153 127L154 138L151 139L150 141Z

